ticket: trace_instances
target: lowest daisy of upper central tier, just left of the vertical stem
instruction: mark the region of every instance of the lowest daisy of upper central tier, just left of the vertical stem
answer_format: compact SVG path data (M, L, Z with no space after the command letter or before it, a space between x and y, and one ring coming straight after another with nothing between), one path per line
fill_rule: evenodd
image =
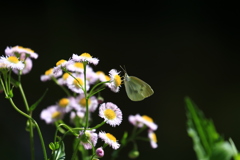
M78 76L77 74L73 74L75 78L70 76L67 79L67 86L70 90L72 90L75 93L83 93L83 88L84 88L84 79L82 76ZM88 81L86 81L86 90L88 91L90 88Z

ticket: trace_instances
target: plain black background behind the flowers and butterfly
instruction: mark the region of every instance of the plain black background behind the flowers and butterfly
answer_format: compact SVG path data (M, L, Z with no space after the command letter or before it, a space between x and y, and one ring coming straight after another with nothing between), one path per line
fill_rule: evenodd
M125 65L129 75L144 79L155 91L144 101L132 102L124 86L117 94L105 90L105 100L121 108L124 120L119 127L105 125L103 130L120 139L125 129L132 128L129 114L146 114L158 124L159 147L154 150L149 143L140 142L139 159L193 160L195 153L186 132L185 96L213 119L226 140L231 137L240 148L239 16L237 3L231 2L7 1L0 2L0 50L4 54L7 46L21 45L39 54L22 81L30 104L49 88L34 112L46 145L53 140L54 127L40 120L39 114L64 94L52 82L41 82L40 75L72 53L89 52L100 59L95 71L107 73ZM18 91L14 93L16 104L24 110ZM1 159L30 159L26 119L3 94L0 107ZM95 117L98 119L97 113ZM35 137L41 160L37 134ZM69 158L71 139L65 143ZM127 159L128 149L120 159ZM110 152L106 149L103 159L108 159Z

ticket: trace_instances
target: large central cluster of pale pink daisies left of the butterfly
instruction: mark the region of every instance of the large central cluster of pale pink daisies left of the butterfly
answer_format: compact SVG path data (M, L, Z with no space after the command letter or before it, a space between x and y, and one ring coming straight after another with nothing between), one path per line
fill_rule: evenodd
M58 100L54 105L47 107L41 112L41 119L47 124L57 123L69 113L70 121L76 122L78 127L84 127L85 123L92 120L91 113L97 109L99 116L103 118L103 123L107 123L113 127L118 126L122 122L122 112L112 102L103 103L102 99L96 97L95 94L89 96L94 91L94 86L101 84L109 87L113 92L118 92L122 83L119 72L115 69L110 70L109 75L102 71L95 72L90 64L97 65L99 60L93 58L89 53L81 55L73 54L69 60L60 60L56 66L48 69L44 75L41 75L41 81L55 81L59 86L68 88L72 94ZM86 122L86 115L89 122ZM113 149L118 149L120 144L117 139L110 133L100 131L96 133L96 129L88 128L81 130L79 133L81 144L85 149L95 147L98 138L101 138L105 144ZM100 147L96 153L104 153ZM101 157L98 155L98 157Z

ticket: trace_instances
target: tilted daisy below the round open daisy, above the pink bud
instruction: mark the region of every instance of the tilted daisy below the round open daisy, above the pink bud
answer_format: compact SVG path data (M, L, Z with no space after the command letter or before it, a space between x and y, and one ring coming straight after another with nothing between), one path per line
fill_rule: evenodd
M110 133L105 133L104 131L99 132L99 138L101 138L106 144L111 146L113 149L118 149L120 144L117 142L117 139Z

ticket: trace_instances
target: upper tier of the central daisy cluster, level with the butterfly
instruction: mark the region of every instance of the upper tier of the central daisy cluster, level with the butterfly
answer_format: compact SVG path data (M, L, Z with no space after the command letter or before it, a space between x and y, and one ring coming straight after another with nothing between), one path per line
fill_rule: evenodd
M122 80L119 76L119 72L116 69L109 71L109 76L102 71L95 72L90 65L86 65L86 79L84 81L84 62L88 64L97 65L99 60L93 58L89 53L83 53L80 56L73 54L70 60L59 60L56 66L45 71L45 74L41 76L41 81L47 81L51 79L57 79L59 85L65 85L75 93L83 93L83 86L86 86L86 91L89 90L90 85L100 82L109 81L106 83L113 92L118 92L121 86ZM68 72L63 72L62 68L65 68ZM86 83L86 84L85 84Z

